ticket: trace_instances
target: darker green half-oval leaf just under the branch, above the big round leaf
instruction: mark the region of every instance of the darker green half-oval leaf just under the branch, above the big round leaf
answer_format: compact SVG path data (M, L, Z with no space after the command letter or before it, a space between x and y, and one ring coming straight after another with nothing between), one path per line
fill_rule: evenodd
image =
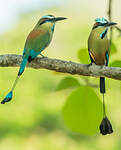
M60 81L60 83L56 87L56 91L64 90L67 88L75 88L79 87L80 83L77 79L73 77L66 77Z

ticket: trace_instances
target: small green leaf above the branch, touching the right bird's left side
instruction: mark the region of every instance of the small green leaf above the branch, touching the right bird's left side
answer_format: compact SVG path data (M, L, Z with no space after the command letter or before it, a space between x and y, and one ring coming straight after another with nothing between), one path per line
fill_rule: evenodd
M89 54L88 54L88 50L86 48L80 49L78 51L78 58L81 63L84 63L84 64L91 63Z

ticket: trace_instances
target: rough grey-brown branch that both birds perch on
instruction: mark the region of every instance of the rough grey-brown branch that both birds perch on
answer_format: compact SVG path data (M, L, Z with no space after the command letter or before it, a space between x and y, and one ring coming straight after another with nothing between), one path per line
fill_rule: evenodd
M20 65L22 57L20 55L0 55L0 67L17 67ZM79 64L71 61L64 61L52 58L37 57L27 67L35 69L48 69L56 72L69 73L72 75L107 77L121 80L121 68L105 67L97 65Z

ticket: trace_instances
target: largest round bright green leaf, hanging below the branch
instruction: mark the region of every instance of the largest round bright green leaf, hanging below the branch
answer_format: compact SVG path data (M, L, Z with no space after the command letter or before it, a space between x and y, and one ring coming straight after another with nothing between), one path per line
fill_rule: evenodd
M63 107L65 124L74 132L93 135L102 120L102 103L90 87L80 87L67 98Z

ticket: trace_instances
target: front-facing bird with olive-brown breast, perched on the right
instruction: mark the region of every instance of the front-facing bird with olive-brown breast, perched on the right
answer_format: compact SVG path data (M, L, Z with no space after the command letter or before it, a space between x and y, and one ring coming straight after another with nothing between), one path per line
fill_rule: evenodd
M97 18L95 20L95 24L93 25L92 31L88 38L88 52L91 63L95 63L96 65L100 66L108 66L110 45L107 37L107 32L109 27L116 24L117 23L109 22L105 18ZM106 113L104 104L104 93L106 92L106 90L104 77L100 77L100 92L103 94L103 115L105 118Z

